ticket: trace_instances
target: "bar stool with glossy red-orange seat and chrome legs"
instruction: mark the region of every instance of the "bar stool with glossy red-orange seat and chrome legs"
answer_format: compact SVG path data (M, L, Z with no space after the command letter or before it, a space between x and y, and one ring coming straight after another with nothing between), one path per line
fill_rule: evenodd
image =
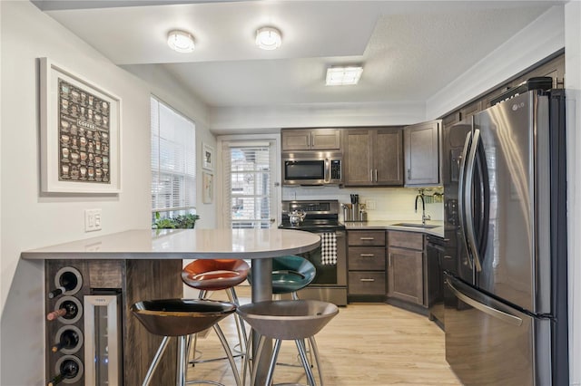
M186 265L182 269L182 282L192 288L200 290L199 298L206 297L209 291L226 291L231 303L236 306L240 305L238 295L234 290L236 285L240 285L250 272L250 265L241 259L198 259ZM246 343L246 328L244 322L236 314L235 315L236 332L238 333L239 343L234 346L239 348L237 350L240 355L243 354L244 348L242 344ZM194 337L193 350L194 356L196 352L197 336ZM211 362L222 360L225 358L213 358L201 361L199 358L194 358L193 363L196 362Z

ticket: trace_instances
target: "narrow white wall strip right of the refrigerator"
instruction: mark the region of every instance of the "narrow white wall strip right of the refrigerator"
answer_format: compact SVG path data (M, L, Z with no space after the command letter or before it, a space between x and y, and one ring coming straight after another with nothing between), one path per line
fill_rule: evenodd
M570 383L581 385L581 3L565 5Z

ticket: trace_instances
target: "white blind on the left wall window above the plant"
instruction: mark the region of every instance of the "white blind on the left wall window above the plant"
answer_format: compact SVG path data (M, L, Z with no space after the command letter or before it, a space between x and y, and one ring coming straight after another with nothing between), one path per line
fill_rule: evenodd
M195 212L195 125L152 97L152 208L162 217Z

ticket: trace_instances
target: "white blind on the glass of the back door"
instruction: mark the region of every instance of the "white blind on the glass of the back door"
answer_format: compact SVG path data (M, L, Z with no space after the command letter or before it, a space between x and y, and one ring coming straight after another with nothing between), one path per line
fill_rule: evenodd
M271 227L273 149L271 141L224 143L226 217L232 228Z

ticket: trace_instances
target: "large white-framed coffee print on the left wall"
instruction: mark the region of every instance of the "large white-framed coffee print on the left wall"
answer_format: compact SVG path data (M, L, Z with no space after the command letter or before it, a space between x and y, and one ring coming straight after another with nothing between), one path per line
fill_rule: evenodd
M40 59L41 189L121 191L121 99Z

